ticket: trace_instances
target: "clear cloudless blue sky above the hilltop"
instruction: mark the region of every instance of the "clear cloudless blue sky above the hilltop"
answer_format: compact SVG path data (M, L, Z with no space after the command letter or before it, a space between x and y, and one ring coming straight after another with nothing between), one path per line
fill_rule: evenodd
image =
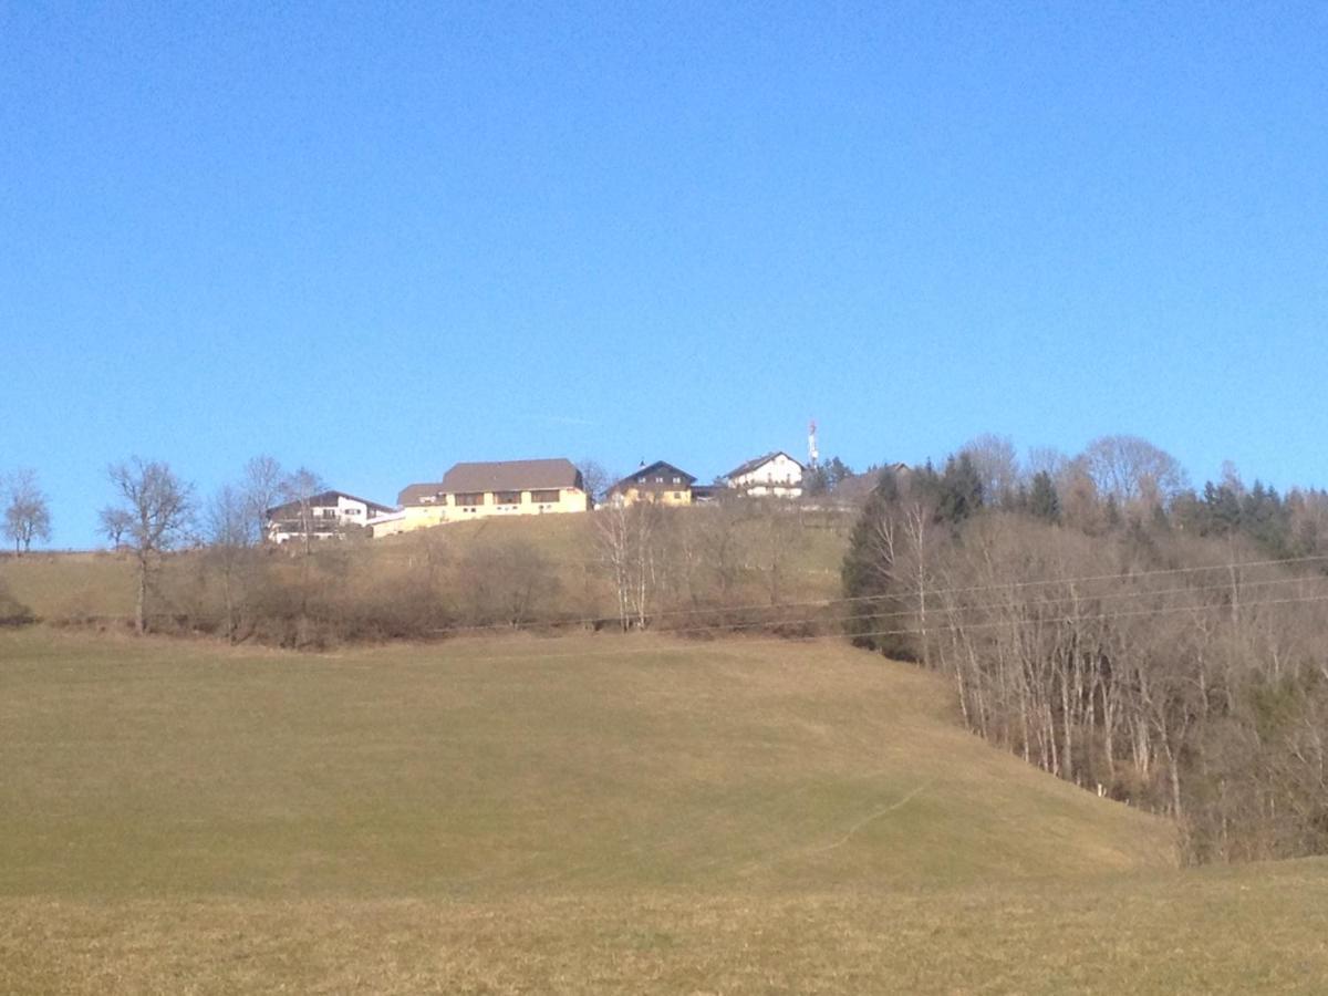
M280 9L278 9L280 8ZM0 0L0 470L1328 485L1328 4Z

